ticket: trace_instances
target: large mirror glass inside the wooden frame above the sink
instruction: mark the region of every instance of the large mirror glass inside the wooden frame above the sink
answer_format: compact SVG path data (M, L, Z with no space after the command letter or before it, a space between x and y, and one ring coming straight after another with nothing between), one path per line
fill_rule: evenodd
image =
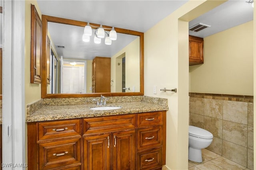
M44 21L42 24L44 31ZM115 28L117 39L106 45L105 38L100 44L94 43L97 26L92 25L90 41L85 42L84 26L48 20L46 25L46 56L43 53L43 57L46 57L47 83L46 87L42 83L42 88L46 88L48 97L51 94L110 93L112 96L113 93L142 92L143 36L140 33L133 35L130 30L122 33L126 32L123 29L120 33ZM111 28L103 28L106 37Z

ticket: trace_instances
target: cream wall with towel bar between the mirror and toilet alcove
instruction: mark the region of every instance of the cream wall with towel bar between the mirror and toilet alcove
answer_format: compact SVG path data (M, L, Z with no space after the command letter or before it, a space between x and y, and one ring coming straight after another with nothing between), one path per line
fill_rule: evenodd
M172 170L188 169L188 21L223 2L189 1L145 33L144 95L168 99L166 166ZM178 92L160 92L164 87Z

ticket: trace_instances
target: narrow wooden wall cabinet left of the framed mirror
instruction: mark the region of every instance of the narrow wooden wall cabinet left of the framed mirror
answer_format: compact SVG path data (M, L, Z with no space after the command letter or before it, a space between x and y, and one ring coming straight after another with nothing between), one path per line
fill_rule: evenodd
M31 58L30 82L41 83L41 58L42 58L42 21L31 4Z

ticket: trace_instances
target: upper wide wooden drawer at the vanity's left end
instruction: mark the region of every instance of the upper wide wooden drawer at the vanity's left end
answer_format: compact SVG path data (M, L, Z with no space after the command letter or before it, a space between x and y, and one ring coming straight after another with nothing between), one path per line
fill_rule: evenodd
M80 119L38 123L38 141L81 135Z

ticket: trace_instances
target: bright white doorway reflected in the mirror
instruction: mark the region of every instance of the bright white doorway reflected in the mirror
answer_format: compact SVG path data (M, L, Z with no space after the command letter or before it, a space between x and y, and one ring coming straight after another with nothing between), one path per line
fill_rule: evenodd
M64 61L62 68L62 93L86 93L86 61Z

